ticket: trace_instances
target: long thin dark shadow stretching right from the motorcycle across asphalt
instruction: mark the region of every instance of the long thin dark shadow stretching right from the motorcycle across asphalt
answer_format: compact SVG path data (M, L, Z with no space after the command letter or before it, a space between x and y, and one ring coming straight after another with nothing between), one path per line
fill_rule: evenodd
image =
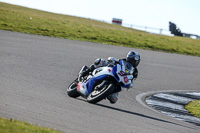
M148 119L164 122L164 123L169 123L169 124L174 124L174 125L178 125L178 126L182 126L182 127L195 129L195 128L192 128L192 127L183 126L183 125L180 125L180 124L177 124L177 123L174 123L174 122L170 122L170 121L154 118L154 117L151 117L151 116L147 116L147 115L143 115L143 114L127 111L127 110L124 110L124 109L119 109L119 108L115 108L115 107L111 107L111 106L107 106L107 105L103 105L103 104L99 104L99 103L97 103L95 105L100 106L100 107L104 107L104 108L108 108L108 109L112 109L112 110L116 110L116 111L123 112L123 113L128 113L128 114L131 114L131 115L137 115L137 116L140 116L140 117L144 117L144 118L148 118Z

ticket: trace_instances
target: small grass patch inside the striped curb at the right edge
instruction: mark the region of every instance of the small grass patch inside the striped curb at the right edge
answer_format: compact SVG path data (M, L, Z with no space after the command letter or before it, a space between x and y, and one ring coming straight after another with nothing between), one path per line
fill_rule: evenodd
M200 118L200 100L192 101L185 108L194 116Z

